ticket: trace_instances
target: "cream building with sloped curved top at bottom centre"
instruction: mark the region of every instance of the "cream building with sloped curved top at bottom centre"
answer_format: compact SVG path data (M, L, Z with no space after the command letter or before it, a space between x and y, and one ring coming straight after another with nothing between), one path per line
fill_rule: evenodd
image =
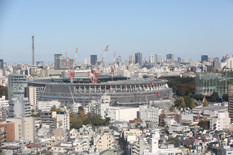
M113 135L104 132L103 135L99 138L96 144L96 152L100 152L106 149L114 148L114 137Z

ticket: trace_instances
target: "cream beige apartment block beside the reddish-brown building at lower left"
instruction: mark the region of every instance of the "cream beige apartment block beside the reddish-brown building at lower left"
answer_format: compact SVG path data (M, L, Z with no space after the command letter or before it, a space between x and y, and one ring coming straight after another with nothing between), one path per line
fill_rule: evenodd
M15 140L30 140L35 142L35 120L33 117L8 118L7 121L14 122Z

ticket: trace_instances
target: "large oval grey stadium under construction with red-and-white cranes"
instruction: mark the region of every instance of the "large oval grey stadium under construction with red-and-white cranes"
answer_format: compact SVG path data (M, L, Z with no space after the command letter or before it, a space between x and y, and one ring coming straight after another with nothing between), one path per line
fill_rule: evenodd
M164 79L128 79L114 76L113 80L111 77L99 77L97 83L91 83L90 78L74 79L73 83L64 78L35 79L29 81L28 86L37 88L40 101L58 100L62 106L68 108L71 108L74 102L85 106L92 100L99 100L103 95L111 96L111 104L118 102L134 106L159 100L156 92L159 92L164 100L172 98L172 88L168 87L167 80Z

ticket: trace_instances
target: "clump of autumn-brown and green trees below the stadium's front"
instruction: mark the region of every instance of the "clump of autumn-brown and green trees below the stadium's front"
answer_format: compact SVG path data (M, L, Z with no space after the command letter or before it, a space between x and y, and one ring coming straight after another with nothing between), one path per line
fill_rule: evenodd
M85 114L83 107L79 107L78 118L74 112L70 113L70 127L81 128L82 125L91 124L93 126L108 125L110 118L102 119L100 115Z

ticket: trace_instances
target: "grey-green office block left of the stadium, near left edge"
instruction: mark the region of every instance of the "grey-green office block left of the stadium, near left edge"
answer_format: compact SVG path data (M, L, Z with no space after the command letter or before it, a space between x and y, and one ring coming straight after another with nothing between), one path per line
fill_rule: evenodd
M8 99L22 99L26 96L27 76L11 74L8 76Z

